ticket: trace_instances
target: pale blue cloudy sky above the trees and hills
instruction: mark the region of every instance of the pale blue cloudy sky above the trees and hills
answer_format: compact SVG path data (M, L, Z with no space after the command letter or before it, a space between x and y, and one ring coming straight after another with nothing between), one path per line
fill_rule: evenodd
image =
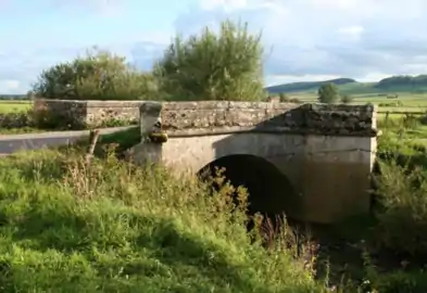
M266 86L426 74L427 0L0 0L0 93L93 46L150 69L173 36L224 20L262 31Z

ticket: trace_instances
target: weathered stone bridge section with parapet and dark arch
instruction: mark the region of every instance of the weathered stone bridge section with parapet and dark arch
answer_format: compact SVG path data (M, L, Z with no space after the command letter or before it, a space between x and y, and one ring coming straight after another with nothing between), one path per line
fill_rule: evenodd
M372 104L146 102L140 124L136 162L194 175L225 167L256 212L324 224L369 212ZM153 140L159 131L167 141Z

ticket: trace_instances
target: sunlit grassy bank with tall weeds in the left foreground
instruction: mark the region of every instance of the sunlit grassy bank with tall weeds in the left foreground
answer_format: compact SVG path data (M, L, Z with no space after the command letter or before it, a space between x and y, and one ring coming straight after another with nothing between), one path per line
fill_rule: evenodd
M71 151L4 158L0 290L321 292L289 249L251 243L234 190Z

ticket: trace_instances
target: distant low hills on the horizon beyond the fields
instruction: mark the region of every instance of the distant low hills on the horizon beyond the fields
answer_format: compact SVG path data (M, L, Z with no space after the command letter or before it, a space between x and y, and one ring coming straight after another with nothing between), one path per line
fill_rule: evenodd
M342 93L427 92L427 75L390 76L377 82L359 82L352 78L277 85L265 88L271 93L316 92L324 85L336 84Z

